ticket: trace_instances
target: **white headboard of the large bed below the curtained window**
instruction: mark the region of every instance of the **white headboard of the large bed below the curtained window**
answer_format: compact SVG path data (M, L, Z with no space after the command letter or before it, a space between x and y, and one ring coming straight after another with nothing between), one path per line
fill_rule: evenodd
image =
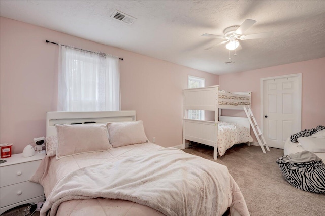
M46 137L56 135L55 124L102 124L107 122L135 121L136 111L99 112L47 112Z

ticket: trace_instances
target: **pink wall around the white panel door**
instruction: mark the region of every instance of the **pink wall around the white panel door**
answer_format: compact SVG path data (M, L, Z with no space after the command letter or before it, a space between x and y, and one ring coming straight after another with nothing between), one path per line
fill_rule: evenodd
M258 123L260 116L261 78L302 74L302 129L325 125L325 58L219 76L221 89L230 92L252 91L252 111ZM230 111L225 115L234 114ZM242 116L243 112L236 113Z

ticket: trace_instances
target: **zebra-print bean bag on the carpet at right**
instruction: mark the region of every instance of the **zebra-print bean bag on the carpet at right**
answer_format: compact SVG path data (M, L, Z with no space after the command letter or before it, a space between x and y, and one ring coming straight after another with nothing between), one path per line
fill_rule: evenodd
M325 193L325 164L315 154L303 151L282 156L276 162L290 185L308 192Z

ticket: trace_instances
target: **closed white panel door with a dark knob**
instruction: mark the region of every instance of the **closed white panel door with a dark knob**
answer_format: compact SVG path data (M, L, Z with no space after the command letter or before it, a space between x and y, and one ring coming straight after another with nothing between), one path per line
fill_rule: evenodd
M301 131L301 74L261 79L263 136L269 147L283 149Z

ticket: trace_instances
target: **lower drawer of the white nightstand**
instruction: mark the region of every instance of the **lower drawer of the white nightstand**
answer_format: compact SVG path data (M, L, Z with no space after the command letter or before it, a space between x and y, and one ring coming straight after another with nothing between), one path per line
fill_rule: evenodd
M0 188L0 208L34 197L42 196L44 189L34 182L22 182Z

